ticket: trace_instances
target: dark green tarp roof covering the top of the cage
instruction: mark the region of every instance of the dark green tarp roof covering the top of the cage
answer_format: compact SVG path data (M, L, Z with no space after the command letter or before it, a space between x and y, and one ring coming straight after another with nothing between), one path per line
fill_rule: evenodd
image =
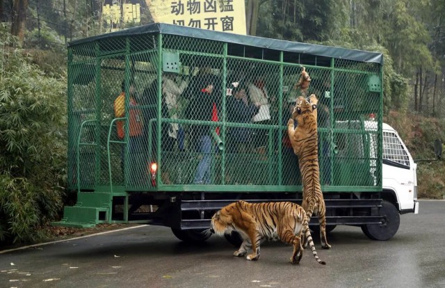
M122 31L116 31L113 33L106 33L80 40L74 40L68 44L68 47L88 42L94 42L96 40L136 36L146 33L181 35L186 37L235 43L239 45L248 45L248 46L261 47L267 49L275 49L278 51L289 51L300 54L309 54L315 56L325 56L325 57L340 58L340 59L354 60L360 62L383 64L383 55L381 53L376 53L376 52L330 47L324 45L314 45L314 44L307 44L300 42L291 42L291 41L276 40L270 38L261 38L249 35L238 35L234 33L211 31L207 29L197 29L186 26L178 26L178 25L163 24L163 23L147 24L144 26L124 29Z

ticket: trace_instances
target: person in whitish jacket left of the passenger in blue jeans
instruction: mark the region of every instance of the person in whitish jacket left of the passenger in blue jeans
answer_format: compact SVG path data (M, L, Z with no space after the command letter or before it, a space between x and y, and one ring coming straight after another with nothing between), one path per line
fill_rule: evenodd
M165 104L168 108L168 115L170 119L178 118L179 96L184 92L188 86L188 80L177 83L175 81L176 74L165 72L162 77L162 93ZM178 148L180 151L184 150L184 129L178 123L170 123L168 129L168 136L175 138L178 141ZM175 141L172 141L175 143Z

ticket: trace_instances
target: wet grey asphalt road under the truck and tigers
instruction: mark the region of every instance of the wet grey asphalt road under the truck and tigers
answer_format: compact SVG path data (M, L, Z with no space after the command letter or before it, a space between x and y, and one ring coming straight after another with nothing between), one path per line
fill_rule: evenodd
M129 230L44 246L0 251L0 287L445 287L445 202L421 201L418 215L401 216L389 241L372 241L359 227L338 226L331 250L316 237L298 265L291 246L264 243L257 262L212 236L200 246L169 228Z

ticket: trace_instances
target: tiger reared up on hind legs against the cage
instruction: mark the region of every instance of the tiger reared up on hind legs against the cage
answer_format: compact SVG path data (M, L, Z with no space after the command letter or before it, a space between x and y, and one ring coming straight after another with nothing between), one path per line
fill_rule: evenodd
M329 249L331 246L326 239L326 207L321 191L320 167L318 166L317 103L318 99L314 94L309 96L309 102L305 97L298 97L292 118L287 122L287 131L293 152L298 156L302 175L302 207L307 212L308 222L311 220L312 214L318 216L321 247ZM294 128L294 121L298 123L296 128ZM305 235L302 235L304 246L306 241Z

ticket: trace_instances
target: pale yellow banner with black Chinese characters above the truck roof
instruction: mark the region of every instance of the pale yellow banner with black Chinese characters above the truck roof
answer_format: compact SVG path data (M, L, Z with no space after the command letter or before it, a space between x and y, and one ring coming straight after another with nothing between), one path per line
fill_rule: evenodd
M145 0L154 22L245 35L243 0Z

